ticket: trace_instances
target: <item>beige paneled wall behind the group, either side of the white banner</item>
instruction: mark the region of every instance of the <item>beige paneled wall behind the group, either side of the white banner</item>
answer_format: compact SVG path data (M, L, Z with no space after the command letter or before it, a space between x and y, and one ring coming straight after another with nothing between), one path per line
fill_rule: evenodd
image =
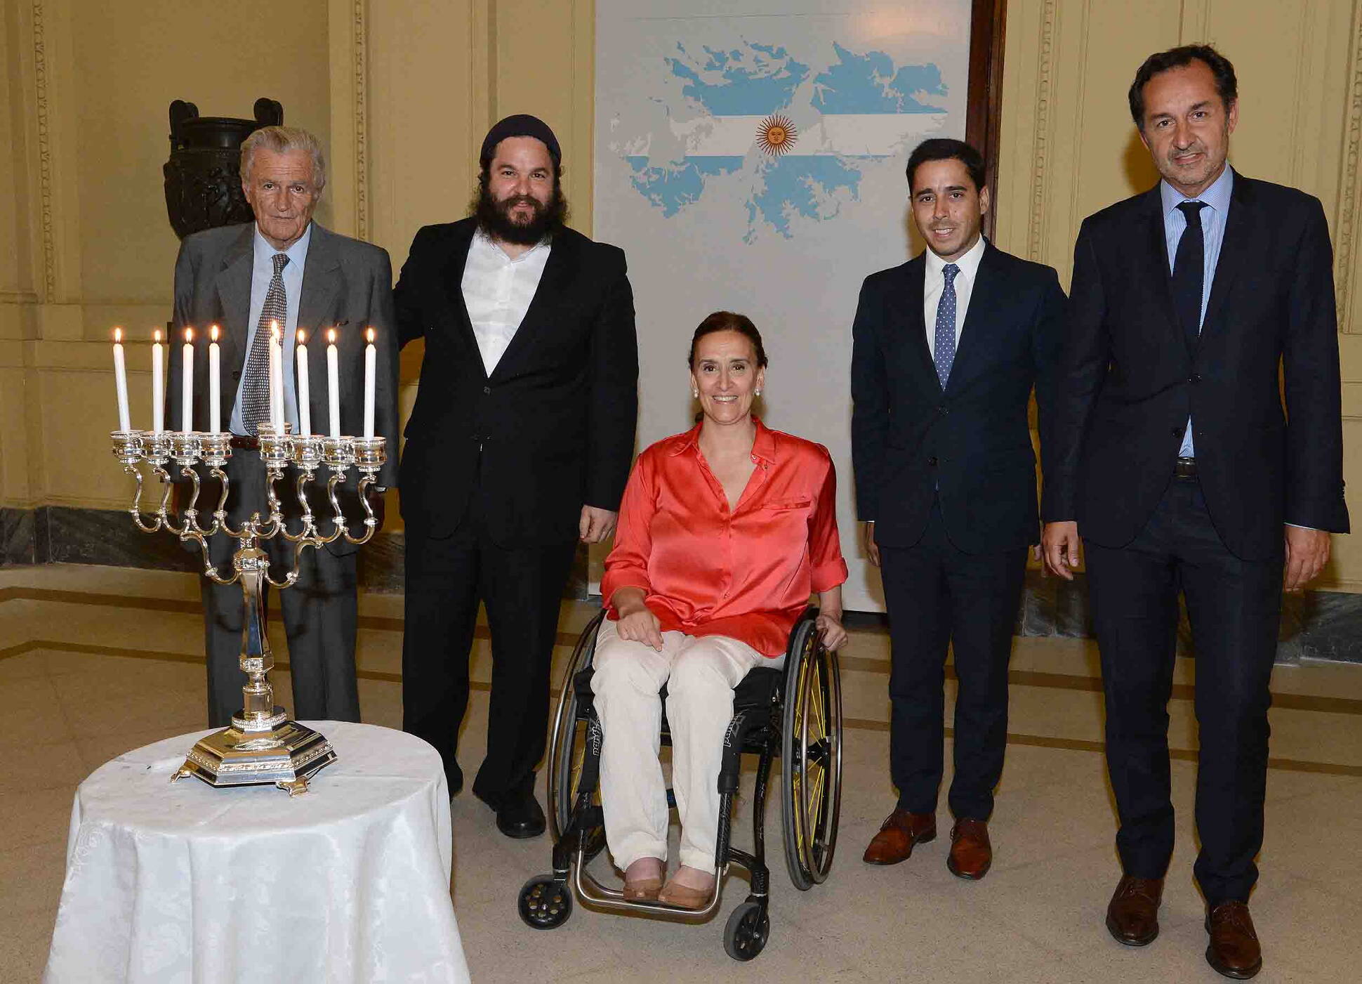
M395 266L417 228L463 214L486 127L534 112L564 144L575 225L590 230L590 0L304 0L286 23L262 0L0 4L0 504L124 504L106 450L105 339L114 322L168 316L173 98L232 116L281 99L287 121L330 140L323 221L385 247ZM1081 218L1152 184L1125 110L1140 60L1200 40L1234 60L1235 166L1317 195L1332 224L1362 522L1362 0L1008 7L997 239L1065 281ZM245 67L262 38L270 57ZM407 402L418 358L405 358ZM144 352L131 361L144 365ZM132 388L144 418L144 375ZM1327 582L1362 590L1362 537L1337 538Z

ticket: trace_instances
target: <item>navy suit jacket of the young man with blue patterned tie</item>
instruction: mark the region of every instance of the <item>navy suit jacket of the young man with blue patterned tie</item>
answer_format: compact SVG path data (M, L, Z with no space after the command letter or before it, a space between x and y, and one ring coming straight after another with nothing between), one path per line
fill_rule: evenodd
M985 245L945 390L922 319L925 253L866 278L853 328L851 457L857 508L887 547L911 547L940 495L967 553L1036 542L1028 403L1042 443L1064 337L1054 270Z

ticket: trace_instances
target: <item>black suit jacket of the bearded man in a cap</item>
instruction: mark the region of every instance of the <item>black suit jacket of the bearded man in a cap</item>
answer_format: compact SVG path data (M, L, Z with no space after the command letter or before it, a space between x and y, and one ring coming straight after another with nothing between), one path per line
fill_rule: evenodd
M624 252L571 229L554 236L488 376L460 286L475 229L474 219L421 229L395 290L402 343L426 346L402 517L418 534L447 536L481 485L496 542L569 542L583 504L620 507L633 457L639 350Z

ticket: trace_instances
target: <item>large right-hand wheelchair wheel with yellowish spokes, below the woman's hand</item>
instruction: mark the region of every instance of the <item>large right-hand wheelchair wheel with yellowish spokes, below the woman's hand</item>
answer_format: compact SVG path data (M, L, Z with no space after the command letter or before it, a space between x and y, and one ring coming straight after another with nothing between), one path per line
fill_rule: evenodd
M842 677L813 619L791 636L780 758L785 861L794 887L808 891L832 870L842 808Z

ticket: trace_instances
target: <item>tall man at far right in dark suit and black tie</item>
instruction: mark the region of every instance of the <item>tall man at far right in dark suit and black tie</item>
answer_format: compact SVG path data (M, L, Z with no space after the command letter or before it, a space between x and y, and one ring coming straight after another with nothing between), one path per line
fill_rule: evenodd
M1181 590L1207 959L1252 977L1283 568L1299 589L1348 529L1329 233L1317 199L1226 165L1237 83L1215 49L1152 55L1129 102L1163 180L1079 233L1043 548L1066 578L1080 534L1087 552L1124 870L1107 928L1129 946L1159 931Z

